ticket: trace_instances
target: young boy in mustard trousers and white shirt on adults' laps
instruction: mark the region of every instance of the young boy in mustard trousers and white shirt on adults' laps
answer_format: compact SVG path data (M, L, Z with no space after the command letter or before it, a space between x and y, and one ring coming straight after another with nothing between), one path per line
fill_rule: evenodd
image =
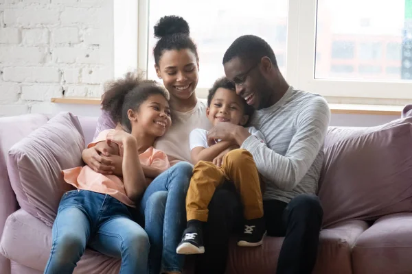
M206 114L212 125L233 123L246 125L253 108L236 95L235 86L225 77L216 80L209 90ZM264 136L254 127L249 132L264 142ZM231 142L218 140L207 144L207 131L194 129L190 133L192 162L196 164L186 197L187 228L176 249L179 254L204 253L203 223L207 222L207 206L216 187L226 180L233 182L240 193L244 206L244 232L238 239L238 246L257 247L262 245L266 234L263 219L260 179L251 153Z

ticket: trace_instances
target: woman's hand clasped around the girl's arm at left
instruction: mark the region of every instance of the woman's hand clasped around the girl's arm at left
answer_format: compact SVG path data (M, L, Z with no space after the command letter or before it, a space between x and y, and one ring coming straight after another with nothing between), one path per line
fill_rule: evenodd
M110 159L110 153L103 146L96 145L95 147L84 149L82 151L82 159L97 173L113 174L115 169L113 161Z

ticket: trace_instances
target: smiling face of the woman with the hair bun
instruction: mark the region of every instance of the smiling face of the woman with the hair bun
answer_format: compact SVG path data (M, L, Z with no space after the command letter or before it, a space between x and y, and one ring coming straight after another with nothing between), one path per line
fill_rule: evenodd
M156 73L163 80L170 96L177 100L194 95L198 83L198 61L190 49L163 51Z

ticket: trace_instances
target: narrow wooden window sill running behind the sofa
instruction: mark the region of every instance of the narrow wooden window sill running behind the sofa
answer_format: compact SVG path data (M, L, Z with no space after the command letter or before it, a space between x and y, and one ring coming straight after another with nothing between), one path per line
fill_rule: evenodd
M100 105L100 98L65 97L52 98L52 103L66 103L75 105ZM343 103L330 103L332 114L367 114L398 116L404 108L402 105L355 105Z

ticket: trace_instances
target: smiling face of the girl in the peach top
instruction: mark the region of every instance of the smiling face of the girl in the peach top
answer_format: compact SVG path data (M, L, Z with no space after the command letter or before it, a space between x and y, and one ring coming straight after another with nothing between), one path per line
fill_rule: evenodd
M128 110L132 132L142 130L154 137L163 136L170 125L170 108L163 95L150 95L137 111Z

